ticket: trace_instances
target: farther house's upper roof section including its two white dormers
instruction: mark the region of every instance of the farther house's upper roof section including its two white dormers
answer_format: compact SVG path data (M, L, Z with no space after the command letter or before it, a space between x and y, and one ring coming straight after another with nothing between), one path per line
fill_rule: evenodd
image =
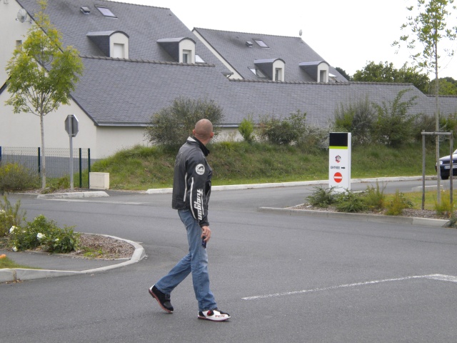
M231 70L230 79L348 82L300 37L199 28L193 32Z

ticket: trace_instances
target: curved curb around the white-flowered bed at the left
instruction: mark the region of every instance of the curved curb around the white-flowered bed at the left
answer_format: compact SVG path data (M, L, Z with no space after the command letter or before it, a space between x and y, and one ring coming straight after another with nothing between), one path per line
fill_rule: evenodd
M25 269L25 268L5 268L0 269L0 282L16 282L18 280L32 280L32 279L48 279L50 277L68 277L71 275L82 275L82 274L95 274L100 272L107 272L111 269L120 268L128 266L129 264L134 264L140 262L141 259L146 257L144 248L141 244L138 244L128 239L123 239L115 236L110 236L108 234L100 234L100 236L111 237L118 239L119 241L127 242L134 246L135 251L131 255L129 261L121 262L119 264L111 264L110 266L86 269L82 271L71 271L71 270L51 270L51 269Z

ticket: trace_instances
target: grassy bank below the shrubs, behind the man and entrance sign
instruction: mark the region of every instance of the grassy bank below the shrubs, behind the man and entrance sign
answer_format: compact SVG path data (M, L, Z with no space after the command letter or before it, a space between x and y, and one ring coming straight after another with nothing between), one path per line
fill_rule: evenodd
M328 151L306 152L296 146L221 142L209 144L213 184L252 184L328 179ZM443 153L448 147L442 144ZM92 166L92 172L108 172L111 189L172 187L178 148L136 146L119 151ZM352 178L417 176L422 174L422 146L400 149L356 146L352 149ZM434 146L426 151L426 174L435 172Z

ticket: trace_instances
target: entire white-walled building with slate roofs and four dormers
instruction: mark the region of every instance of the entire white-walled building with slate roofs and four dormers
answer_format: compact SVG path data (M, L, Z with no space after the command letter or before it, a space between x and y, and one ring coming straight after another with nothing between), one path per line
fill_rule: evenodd
M24 21L16 20L21 9ZM6 63L38 10L35 0L0 1L0 146L40 145L39 117L4 105ZM434 114L433 98L411 84L348 82L301 38L190 31L170 9L105 0L49 1L46 13L84 63L71 104L45 117L46 147L68 147L69 114L79 119L74 147L91 148L94 159L147 144L151 115L179 96L214 100L224 110L223 131L247 116L297 110L308 124L326 126L342 103L392 101L403 89L417 96L413 113ZM454 112L457 98L441 98L441 113Z

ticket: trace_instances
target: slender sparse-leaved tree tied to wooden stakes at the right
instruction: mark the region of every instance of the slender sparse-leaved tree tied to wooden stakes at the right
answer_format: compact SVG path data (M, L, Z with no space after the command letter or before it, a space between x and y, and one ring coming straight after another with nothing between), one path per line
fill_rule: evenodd
M401 43L412 51L411 57L416 64L428 71L435 71L435 129L439 131L439 101L438 101L438 59L440 58L441 42L444 39L453 40L457 36L457 27L448 27L446 19L450 16L448 7L452 6L454 0L417 0L417 10L414 6L407 7L411 11L407 23L401 29L411 29L411 36L404 34L400 41L394 41L393 46L400 48ZM452 6L456 9L456 6ZM416 11L416 13L414 13ZM417 45L421 44L421 49L417 51ZM452 56L453 51L446 51ZM436 164L439 165L440 143L436 139ZM437 202L441 203L440 197L440 170L437 170Z

